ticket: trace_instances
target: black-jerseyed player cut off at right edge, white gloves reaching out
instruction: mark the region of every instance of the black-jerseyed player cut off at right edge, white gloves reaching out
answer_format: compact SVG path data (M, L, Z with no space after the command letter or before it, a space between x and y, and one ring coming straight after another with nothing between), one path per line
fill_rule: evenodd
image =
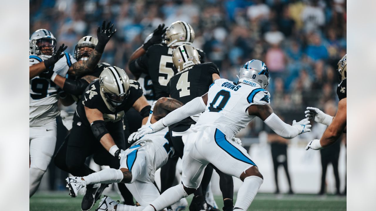
M309 120L314 119L315 122L327 125L328 127L320 140L314 139L308 143L306 150L309 148L314 150L326 148L336 142L342 133L346 133L346 64L347 54L338 62L338 72L340 73L339 79L341 82L338 84L337 88L337 95L340 100L340 102L338 102L337 114L332 117L322 112L320 109L307 107L305 113Z

